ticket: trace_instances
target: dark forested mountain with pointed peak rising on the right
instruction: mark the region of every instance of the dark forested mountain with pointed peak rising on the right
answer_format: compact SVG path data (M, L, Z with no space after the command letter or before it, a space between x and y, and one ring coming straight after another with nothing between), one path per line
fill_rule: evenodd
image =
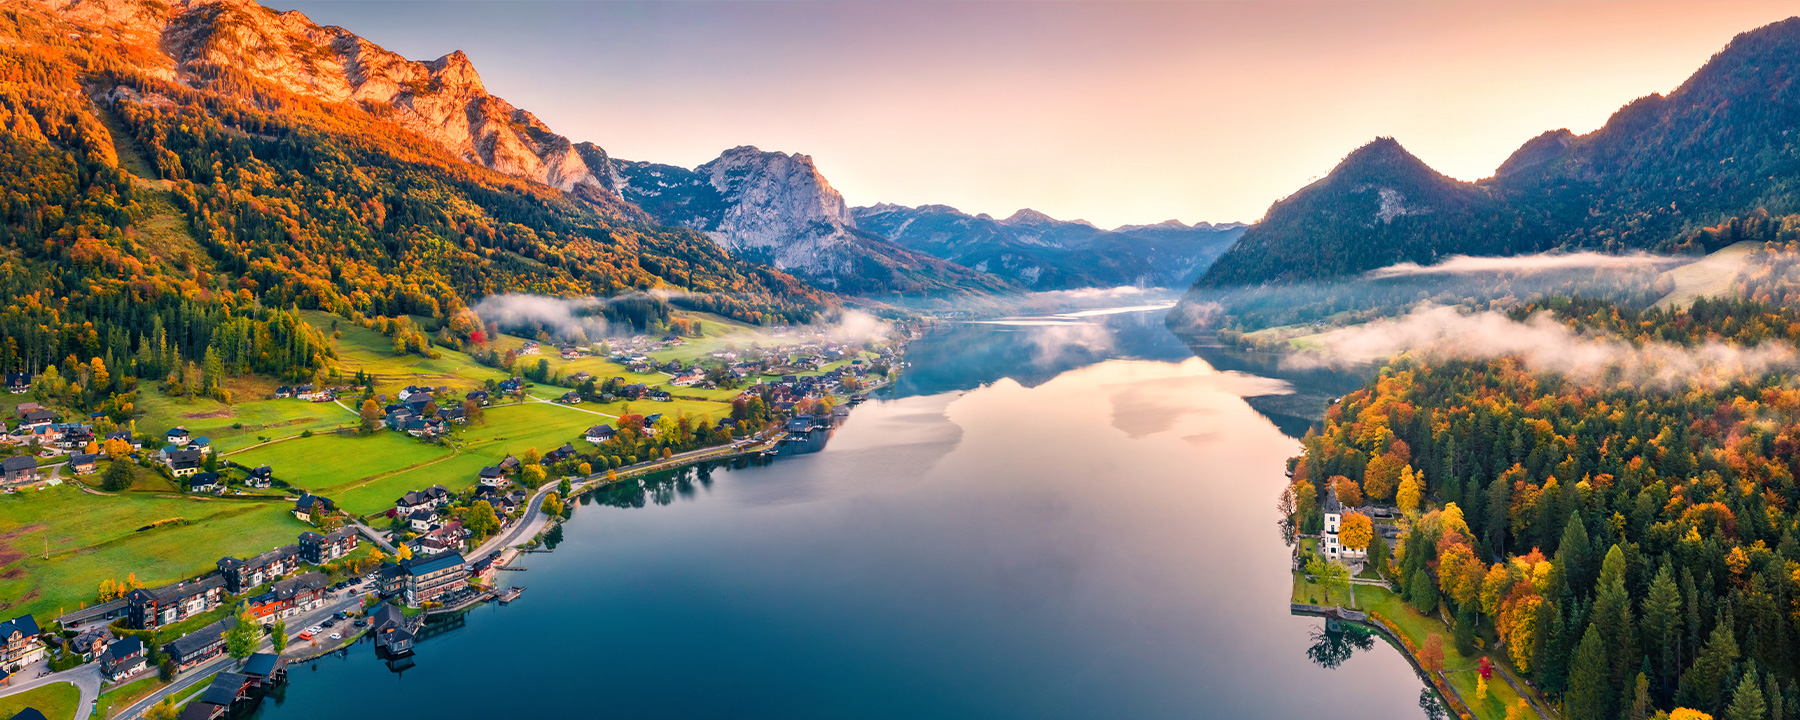
M1224 288L1557 248L1710 250L1690 230L1800 209L1800 18L1744 32L1600 130L1543 133L1492 178L1447 178L1393 139L1269 207L1199 281Z

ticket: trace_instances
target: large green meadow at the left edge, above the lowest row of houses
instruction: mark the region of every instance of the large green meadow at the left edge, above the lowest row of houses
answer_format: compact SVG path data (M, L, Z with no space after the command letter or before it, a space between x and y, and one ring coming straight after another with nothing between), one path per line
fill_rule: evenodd
M142 529L171 518L187 522ZM101 580L135 572L144 585L173 583L211 571L220 556L286 545L308 529L279 500L88 495L68 484L0 497L0 527L4 612L41 621L92 603Z

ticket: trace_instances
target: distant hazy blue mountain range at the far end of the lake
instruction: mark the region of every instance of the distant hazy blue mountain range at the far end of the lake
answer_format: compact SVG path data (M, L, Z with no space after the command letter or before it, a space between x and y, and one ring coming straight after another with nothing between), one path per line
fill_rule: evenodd
M851 211L857 227L907 250L943 257L1031 290L1184 286L1244 234L1244 225L1129 225L1102 230L1037 211L1006 220L949 205L873 205Z

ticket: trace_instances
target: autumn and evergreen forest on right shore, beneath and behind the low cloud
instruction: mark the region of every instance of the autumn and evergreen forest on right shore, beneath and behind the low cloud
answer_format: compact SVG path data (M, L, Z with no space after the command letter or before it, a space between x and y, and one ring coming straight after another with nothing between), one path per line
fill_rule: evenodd
M1795 311L1753 302L1546 306L1636 342L1800 335ZM1388 565L1402 596L1462 644L1499 643L1570 718L1800 716L1793 380L1660 391L1402 360L1309 432L1292 520L1316 526L1330 484L1409 509Z

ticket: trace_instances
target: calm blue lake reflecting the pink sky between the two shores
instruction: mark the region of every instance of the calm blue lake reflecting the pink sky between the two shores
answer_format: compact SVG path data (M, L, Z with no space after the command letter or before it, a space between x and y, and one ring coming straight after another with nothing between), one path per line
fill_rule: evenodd
M1159 311L949 326L909 360L824 452L590 497L517 603L401 671L297 666L257 716L1424 716L1393 648L1287 612L1298 441L1244 401L1282 382Z

